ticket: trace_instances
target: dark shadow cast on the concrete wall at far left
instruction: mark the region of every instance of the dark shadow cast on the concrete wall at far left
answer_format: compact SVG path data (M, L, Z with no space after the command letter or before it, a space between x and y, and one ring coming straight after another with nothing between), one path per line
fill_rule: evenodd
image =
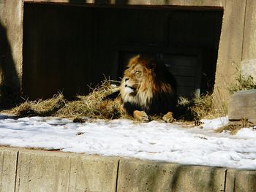
M0 110L18 103L20 87L12 50L7 40L7 31L0 23Z

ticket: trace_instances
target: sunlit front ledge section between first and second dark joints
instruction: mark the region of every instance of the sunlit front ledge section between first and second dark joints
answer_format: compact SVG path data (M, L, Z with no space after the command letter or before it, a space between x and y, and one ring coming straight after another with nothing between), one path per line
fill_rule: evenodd
M16 191L115 191L118 159L20 150Z

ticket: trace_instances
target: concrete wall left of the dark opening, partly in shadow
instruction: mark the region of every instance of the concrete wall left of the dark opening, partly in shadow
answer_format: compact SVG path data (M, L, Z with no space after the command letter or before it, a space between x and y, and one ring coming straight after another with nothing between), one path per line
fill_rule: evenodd
M0 93L11 101L21 85L22 45L23 1L0 0Z

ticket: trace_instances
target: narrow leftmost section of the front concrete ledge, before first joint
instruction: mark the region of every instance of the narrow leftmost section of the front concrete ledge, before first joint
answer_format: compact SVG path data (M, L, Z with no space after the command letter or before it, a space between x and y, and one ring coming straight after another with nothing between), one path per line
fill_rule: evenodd
M0 191L15 191L17 151L0 151Z

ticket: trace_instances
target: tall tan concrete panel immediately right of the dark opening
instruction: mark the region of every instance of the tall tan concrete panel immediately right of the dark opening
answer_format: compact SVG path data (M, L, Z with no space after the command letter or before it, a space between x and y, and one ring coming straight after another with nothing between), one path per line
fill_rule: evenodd
M228 88L240 69L246 0L226 1L219 40L219 54L214 85L214 105L222 110L230 99Z

